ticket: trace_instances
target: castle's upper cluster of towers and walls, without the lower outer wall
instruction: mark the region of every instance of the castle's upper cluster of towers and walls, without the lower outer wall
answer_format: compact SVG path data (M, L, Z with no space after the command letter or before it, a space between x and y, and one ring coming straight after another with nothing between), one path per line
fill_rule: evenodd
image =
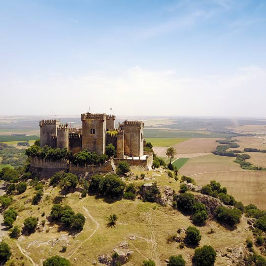
M40 126L40 146L68 149L73 153L87 150L101 155L111 143L117 150L117 158L143 158L144 123L124 121L115 128L115 115L81 114L82 129L61 125L60 120L42 120Z

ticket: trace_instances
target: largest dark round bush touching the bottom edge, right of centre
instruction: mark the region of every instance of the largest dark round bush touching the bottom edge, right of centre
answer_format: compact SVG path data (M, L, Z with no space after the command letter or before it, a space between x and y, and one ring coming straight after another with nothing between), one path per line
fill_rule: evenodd
M216 252L212 246L204 245L196 248L192 258L194 266L213 266L216 260Z

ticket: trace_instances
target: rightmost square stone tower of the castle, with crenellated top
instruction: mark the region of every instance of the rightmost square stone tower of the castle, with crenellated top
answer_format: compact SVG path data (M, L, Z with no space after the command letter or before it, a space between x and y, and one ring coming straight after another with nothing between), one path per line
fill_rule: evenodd
M120 128L124 129L125 155L131 157L143 156L144 123L142 121L124 121Z

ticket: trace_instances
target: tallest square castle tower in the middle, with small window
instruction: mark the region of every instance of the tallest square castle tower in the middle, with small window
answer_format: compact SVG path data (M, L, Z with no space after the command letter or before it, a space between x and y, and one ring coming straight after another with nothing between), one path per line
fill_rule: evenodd
M82 121L82 150L97 154L105 153L106 115L81 114Z

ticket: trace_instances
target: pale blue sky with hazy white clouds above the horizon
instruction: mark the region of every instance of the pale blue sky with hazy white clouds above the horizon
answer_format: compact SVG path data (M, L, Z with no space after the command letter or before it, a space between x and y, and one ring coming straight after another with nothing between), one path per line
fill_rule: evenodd
M1 115L265 106L265 0L0 0Z

